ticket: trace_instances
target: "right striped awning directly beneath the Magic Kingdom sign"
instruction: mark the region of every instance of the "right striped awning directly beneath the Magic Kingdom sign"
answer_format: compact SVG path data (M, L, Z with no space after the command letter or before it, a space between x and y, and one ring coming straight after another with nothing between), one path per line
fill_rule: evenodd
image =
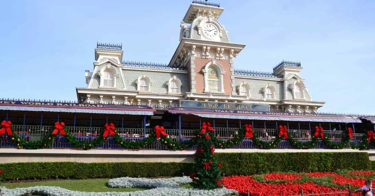
M289 112L253 112L228 111L202 108L171 108L173 114L192 114L203 118L243 119L243 120L280 120L332 123L361 123L358 118L347 115L302 114ZM226 113L226 114L223 114ZM229 114L228 114L229 113ZM243 114L247 113L247 114Z

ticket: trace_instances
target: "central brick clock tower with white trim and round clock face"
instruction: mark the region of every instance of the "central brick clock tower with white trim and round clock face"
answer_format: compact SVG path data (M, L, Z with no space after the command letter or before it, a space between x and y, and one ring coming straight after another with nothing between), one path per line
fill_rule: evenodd
M217 99L236 95L233 60L245 45L229 42L218 21L223 10L216 3L193 1L180 24L180 44L169 66L187 67L189 96L196 100L207 93Z

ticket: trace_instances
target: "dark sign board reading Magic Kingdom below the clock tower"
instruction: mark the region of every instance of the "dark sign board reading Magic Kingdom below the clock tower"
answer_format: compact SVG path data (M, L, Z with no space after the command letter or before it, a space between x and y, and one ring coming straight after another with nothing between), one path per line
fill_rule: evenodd
M264 104L203 102L203 101L190 101L190 100L180 100L180 107L226 109L226 110L237 110L237 111L260 111L260 112L270 111L270 106L264 105Z

